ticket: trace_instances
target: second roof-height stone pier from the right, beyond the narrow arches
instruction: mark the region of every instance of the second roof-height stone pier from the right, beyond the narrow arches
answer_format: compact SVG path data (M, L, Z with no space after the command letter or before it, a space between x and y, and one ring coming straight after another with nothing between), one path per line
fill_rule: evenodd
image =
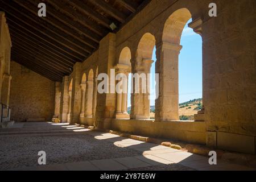
M71 123L80 122L81 111L81 63L76 63L73 69Z

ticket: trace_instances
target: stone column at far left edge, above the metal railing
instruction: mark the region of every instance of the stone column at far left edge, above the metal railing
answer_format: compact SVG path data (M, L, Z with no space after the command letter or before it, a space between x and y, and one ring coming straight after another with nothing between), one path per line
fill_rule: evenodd
M9 106L10 100L10 88L11 88L11 76L10 75L3 75L2 81L2 92L1 92L1 102Z

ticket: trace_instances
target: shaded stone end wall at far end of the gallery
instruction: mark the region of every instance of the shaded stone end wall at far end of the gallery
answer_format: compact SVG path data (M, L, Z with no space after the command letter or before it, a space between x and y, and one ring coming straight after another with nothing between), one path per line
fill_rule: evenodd
M54 114L55 82L11 61L11 119L28 118L51 121Z

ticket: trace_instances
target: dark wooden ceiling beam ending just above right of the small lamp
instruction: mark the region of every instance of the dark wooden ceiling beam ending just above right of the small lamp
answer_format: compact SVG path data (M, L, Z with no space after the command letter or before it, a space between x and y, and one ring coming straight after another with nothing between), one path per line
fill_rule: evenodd
M126 15L123 14L121 11L115 9L113 6L109 5L108 2L106 2L104 0L89 0L89 1L93 5L99 7L101 10L103 10L106 14L117 19L119 22L121 22L121 23L125 22L125 19L127 18Z

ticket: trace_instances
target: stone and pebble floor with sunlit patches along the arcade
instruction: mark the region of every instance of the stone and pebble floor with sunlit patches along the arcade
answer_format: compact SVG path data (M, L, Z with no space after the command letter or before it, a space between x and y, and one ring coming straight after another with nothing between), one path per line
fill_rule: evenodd
M65 123L16 123L0 129L0 147L0 170L254 170ZM38 165L39 151L46 166Z

